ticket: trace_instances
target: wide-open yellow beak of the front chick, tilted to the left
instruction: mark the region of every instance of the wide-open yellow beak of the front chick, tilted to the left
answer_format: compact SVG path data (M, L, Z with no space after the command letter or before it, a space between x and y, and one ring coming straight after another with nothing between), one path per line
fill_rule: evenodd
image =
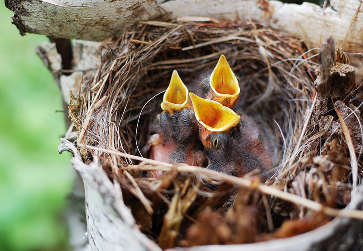
M213 100L190 93L197 121L209 131L225 131L238 124L241 117L232 109Z

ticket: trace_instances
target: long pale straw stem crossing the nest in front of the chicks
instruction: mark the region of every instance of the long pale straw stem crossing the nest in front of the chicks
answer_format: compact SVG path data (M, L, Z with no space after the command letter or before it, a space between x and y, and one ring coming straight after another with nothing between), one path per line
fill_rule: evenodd
M149 163L149 164L152 164L152 165L159 165L159 166L164 167L164 168L160 168L160 167L157 167L157 166L147 166L145 168L145 170L163 170L163 171L176 170L178 172L186 172L186 173L193 173L193 174L198 174L198 175L206 175L210 179L223 180L223 181L228 182L230 184L240 185L240 186L243 186L245 188L252 188L252 189L259 190L262 193L270 194L270 195L272 195L274 197L277 197L277 198L280 198L280 199L283 199L283 200L286 200L286 201L289 201L289 202L292 202L292 203L295 203L295 204L298 204L298 205L302 205L302 206L307 207L307 208L309 208L311 210L318 211L318 212L323 212L326 215L331 216L331 217L348 217L348 218L363 220L363 210L346 210L346 209L340 210L340 209L336 209L336 208L332 208L332 207L327 207L327 206L324 206L324 205L322 205L322 204L320 204L318 202L312 201L310 199L303 198L303 197L300 197L298 195L288 193L286 191L281 191L280 189L277 189L277 188L273 188L272 186L262 185L259 182L256 182L257 180L254 180L254 179L244 179L244 178L234 177L234 176L231 176L231 175L218 173L218 172L215 172L215 171L212 171L212 170L209 170L209 169L205 169L205 168L201 168L201 167L195 167L195 166L188 166L188 165L185 165L185 164L172 165L172 164L164 163L164 162L161 162L161 161L146 159L146 158L134 156L134 155L131 155L131 154L106 150L106 149L102 149L102 148L94 147L94 146L89 146L89 145L79 144L79 146L82 146L82 147L85 147L85 148L88 148L88 149L92 149L92 150L96 150L96 151L109 153L109 154L115 154L115 155L125 157L125 158L144 161L145 163ZM128 166L125 169L133 169L133 168ZM140 166L136 167L135 169L144 170Z

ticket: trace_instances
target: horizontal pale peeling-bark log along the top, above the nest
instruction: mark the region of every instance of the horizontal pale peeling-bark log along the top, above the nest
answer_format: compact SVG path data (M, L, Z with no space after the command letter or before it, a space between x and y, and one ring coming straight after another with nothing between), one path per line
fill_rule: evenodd
M333 36L339 46L359 7L358 0L331 0L332 7L305 2L287 4L276 0L5 0L15 12L21 32L60 38L102 41L121 34L125 27L142 20L208 16L220 20L254 19L274 29L301 36L310 48ZM362 50L363 7L346 39L345 50Z

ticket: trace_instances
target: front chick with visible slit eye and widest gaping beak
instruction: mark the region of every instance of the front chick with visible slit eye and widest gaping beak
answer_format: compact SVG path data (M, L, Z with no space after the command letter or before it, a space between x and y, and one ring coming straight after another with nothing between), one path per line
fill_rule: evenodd
M193 93L190 97L208 169L241 177L255 169L264 173L273 168L264 139L250 117Z

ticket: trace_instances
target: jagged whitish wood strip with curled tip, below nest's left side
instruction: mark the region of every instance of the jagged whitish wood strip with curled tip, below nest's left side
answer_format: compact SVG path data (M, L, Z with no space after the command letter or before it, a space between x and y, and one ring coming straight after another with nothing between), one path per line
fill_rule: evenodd
M87 236L92 250L161 251L140 232L130 209L123 203L120 186L108 179L99 161L84 164L75 146L66 139L61 141L58 152L73 153L71 162L85 186Z

